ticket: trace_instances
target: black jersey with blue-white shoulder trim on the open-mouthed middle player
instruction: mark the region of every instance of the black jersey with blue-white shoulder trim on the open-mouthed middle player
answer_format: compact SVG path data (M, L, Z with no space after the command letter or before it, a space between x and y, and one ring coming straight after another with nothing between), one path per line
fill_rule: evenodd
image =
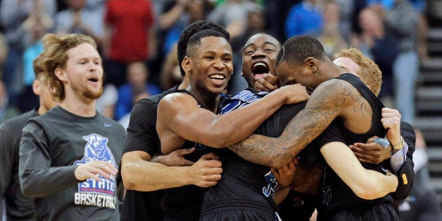
M225 109L227 107L236 109L256 99L260 99L264 95L256 94L251 89L241 91L232 99L227 99L223 104L222 113L226 113ZM290 120L304 106L305 102L282 106L282 108L279 108L277 112L263 122L254 133L267 137L279 137ZM319 151L315 151L315 153L317 153L316 156L319 156ZM217 154L222 161L222 178L216 186L211 187L206 192L204 203L217 203L219 206L222 206L223 203L232 203L232 200L235 199L239 201L247 199L248 201L263 203L268 208L277 211L277 206L271 198L271 195L274 194L274 187L272 187L271 183L276 181L266 180L265 178L270 172L269 167L250 163L237 156L236 153L229 151L229 149L219 149ZM270 198L267 196L270 196Z

